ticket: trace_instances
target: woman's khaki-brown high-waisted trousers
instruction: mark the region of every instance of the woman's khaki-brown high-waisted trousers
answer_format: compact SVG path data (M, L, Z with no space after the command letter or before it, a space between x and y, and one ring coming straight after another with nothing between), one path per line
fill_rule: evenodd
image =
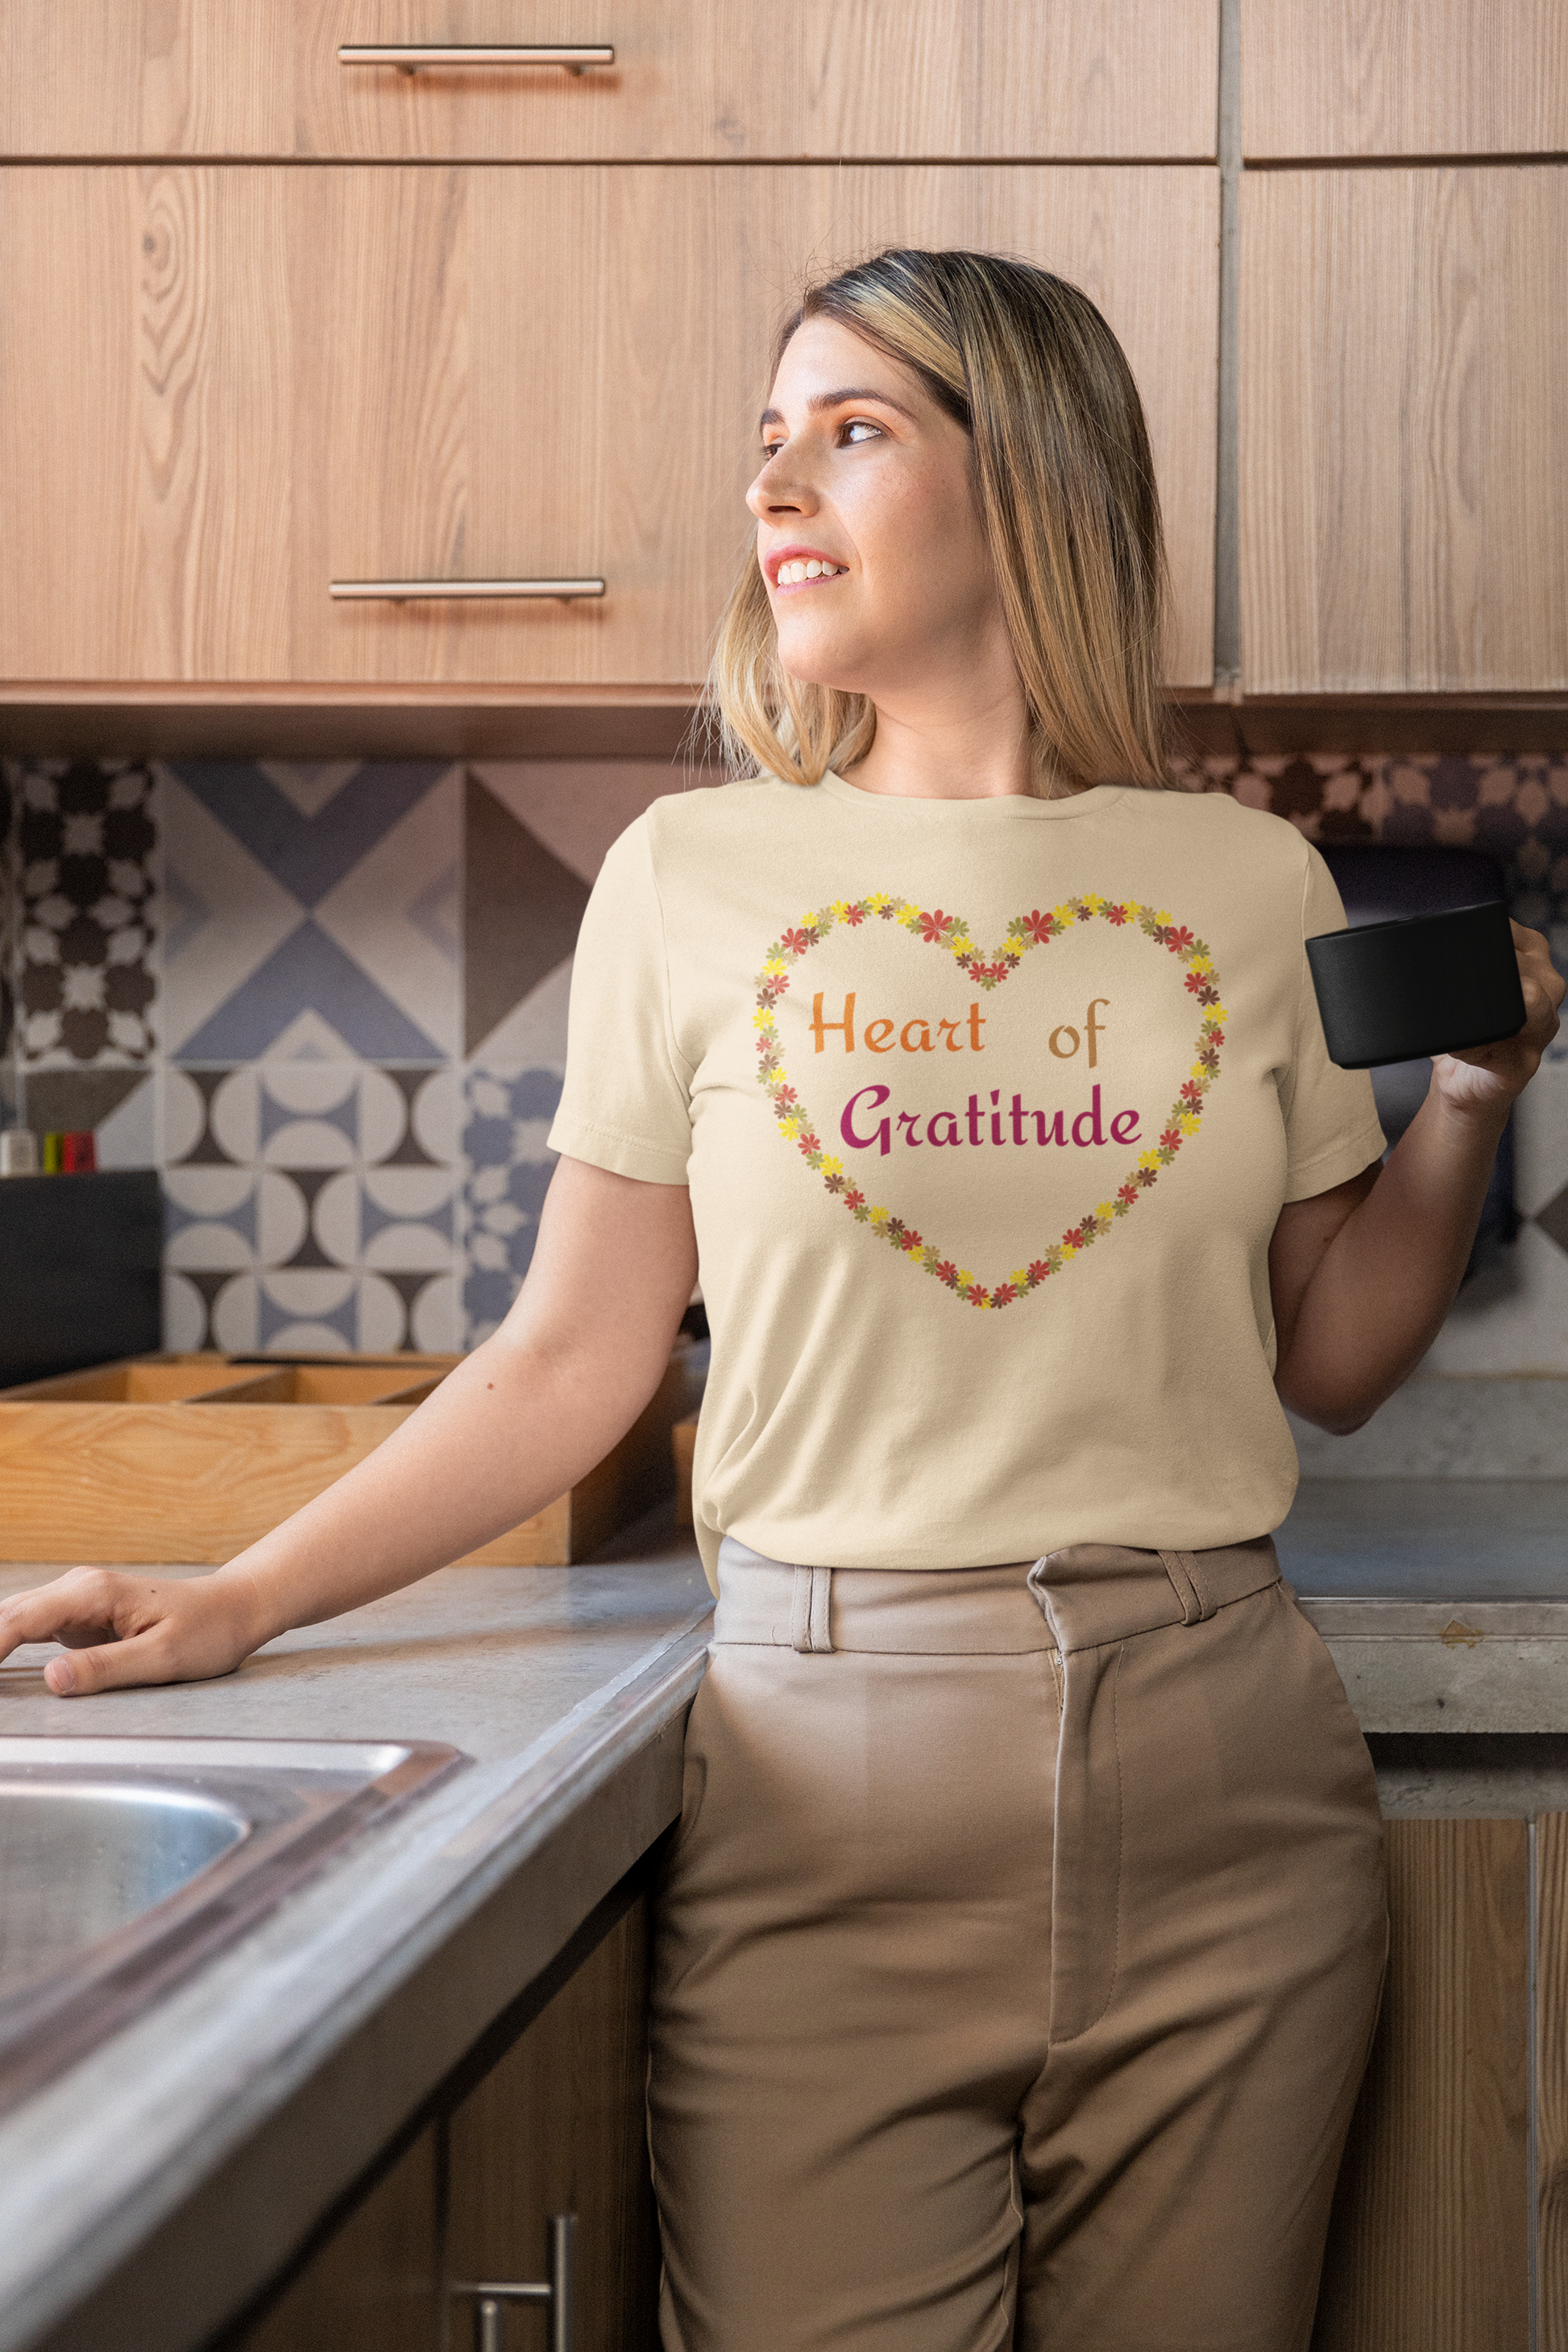
M1305 2352L1385 1950L1267 1538L726 1543L654 1962L668 2352Z

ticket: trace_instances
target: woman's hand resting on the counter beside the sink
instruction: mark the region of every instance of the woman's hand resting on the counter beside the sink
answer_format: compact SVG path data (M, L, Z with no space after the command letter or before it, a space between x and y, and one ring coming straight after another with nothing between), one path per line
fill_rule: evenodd
M21 1642L63 1644L66 1656L45 1668L56 1698L233 1675L273 1630L254 1581L233 1566L209 1576L71 1569L0 1602L0 1658Z

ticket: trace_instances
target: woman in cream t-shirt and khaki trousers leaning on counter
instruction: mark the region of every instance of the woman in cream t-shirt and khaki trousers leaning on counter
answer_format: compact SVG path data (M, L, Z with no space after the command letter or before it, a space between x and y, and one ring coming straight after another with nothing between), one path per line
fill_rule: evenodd
M614 847L496 1338L207 1578L0 1611L221 1675L571 1484L698 1270L715 1656L654 1987L675 2352L1295 2352L1385 1957L1279 1399L1436 1334L1528 1023L1387 1167L1300 835L1164 793L1161 541L1098 310L891 252L785 332L717 656L757 776Z

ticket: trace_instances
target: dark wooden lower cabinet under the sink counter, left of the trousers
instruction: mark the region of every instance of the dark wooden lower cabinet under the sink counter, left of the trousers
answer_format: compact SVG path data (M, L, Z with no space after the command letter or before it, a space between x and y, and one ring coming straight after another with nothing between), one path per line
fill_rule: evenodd
M654 2352L646 1955L639 1893L226 2352L468 2352L484 2343L477 2300L454 2288L543 2281L552 2213L576 2213L576 2352ZM503 2307L487 2352L548 2340L545 2312Z

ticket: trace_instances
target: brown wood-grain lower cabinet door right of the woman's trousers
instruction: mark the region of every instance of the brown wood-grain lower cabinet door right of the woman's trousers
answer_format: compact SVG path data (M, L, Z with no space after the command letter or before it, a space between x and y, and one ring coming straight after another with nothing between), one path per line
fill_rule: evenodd
M1392 1820L1389 1973L1312 2352L1528 2352L1523 1820Z

